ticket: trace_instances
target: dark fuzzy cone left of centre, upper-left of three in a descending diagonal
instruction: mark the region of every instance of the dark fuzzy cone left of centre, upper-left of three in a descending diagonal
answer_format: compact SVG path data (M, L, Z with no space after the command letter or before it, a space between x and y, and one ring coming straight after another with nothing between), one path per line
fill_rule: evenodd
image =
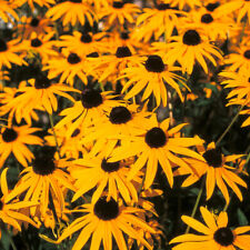
M81 102L86 109L91 109L100 106L103 100L101 93L98 90L86 89L81 93Z

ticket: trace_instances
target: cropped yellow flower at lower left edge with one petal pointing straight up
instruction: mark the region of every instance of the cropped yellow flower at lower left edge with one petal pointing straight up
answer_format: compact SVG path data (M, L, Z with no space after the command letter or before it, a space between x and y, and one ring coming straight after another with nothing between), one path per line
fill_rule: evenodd
M3 169L1 172L1 192L2 197L0 198L0 219L1 222L6 223L8 227L11 226L13 229L18 231L22 231L21 223L27 222L32 224L33 227L38 228L38 224L34 223L33 220L31 220L26 214L21 213L20 209L29 209L31 207L34 207L38 204L38 202L31 202L31 201L17 201L13 200L11 202L7 201L7 197L9 194L8 183L7 183L7 171L8 169ZM2 230L2 228L1 228ZM2 237L0 230L0 239Z

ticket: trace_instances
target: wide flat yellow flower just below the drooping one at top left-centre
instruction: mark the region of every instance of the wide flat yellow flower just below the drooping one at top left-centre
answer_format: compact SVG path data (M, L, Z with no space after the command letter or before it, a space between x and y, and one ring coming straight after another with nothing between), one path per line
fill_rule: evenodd
M91 33L91 32L79 32L73 31L71 34L63 34L59 41L54 42L57 47L67 48L67 50L78 53L80 56L87 56L92 52L106 52L107 41L102 41L107 36L106 32Z

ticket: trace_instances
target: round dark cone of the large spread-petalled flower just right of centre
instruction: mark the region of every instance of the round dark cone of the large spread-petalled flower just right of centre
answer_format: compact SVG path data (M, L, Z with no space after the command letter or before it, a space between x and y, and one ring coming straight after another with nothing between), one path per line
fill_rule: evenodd
M144 140L150 148L161 148L167 143L167 136L161 128L154 127L146 133Z

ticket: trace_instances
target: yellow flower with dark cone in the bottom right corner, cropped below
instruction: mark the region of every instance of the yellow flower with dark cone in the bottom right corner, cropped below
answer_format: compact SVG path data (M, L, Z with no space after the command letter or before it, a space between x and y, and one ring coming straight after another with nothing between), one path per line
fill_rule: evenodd
M170 244L178 243L172 250L237 250L250 249L249 226L231 229L228 226L227 212L220 212L218 217L211 213L204 207L200 208L201 216L206 224L198 220L182 216L181 219L189 227L201 234L187 233L176 237Z

